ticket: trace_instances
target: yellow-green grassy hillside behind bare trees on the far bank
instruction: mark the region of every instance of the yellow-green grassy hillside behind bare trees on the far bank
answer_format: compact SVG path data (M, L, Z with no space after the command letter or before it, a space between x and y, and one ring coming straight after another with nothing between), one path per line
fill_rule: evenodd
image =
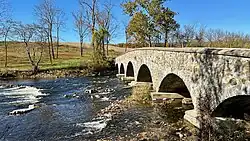
M58 59L53 60L53 64L49 61L48 49L44 49L43 57L40 63L40 69L61 69L70 67L79 67L86 65L92 60L92 49L84 48L84 55L80 57L79 47L77 45L61 45L59 47ZM110 51L110 57L115 57L119 53ZM29 63L24 44L11 43L8 47L8 67L4 67L5 48L0 44L0 70L30 70Z

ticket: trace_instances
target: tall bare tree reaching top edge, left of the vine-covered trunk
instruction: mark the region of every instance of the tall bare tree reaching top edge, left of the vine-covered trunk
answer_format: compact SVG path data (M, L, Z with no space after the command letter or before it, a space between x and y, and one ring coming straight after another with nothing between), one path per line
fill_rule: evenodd
M97 16L97 0L79 0L82 9L86 12L86 19L92 34L92 47L94 48L93 36L95 33L96 16ZM95 49L94 49L95 50Z

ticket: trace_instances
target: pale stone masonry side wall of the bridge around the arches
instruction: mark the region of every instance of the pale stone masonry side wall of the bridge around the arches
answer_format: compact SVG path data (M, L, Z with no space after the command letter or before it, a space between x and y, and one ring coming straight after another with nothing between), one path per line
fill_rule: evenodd
M197 110L201 99L207 99L214 110L224 100L250 95L250 50L218 48L142 48L116 58L120 68L131 62L135 79L145 64L158 91L170 73L186 84Z

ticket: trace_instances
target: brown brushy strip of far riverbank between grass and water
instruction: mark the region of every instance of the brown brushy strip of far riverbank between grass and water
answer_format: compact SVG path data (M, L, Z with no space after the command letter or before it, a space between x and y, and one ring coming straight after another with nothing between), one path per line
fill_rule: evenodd
M48 69L40 69L35 74L32 70L2 70L0 71L0 79L61 78L111 75L114 73L115 69L114 59L112 58L101 61L89 60L73 67L52 67Z

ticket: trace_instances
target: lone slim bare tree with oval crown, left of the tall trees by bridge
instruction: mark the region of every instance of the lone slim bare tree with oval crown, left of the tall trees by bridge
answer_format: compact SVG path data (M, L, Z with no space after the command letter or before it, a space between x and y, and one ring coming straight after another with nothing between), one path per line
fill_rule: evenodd
M72 13L74 17L75 31L80 38L80 55L83 55L83 39L88 34L88 25L86 24L83 11L80 9L77 12Z

